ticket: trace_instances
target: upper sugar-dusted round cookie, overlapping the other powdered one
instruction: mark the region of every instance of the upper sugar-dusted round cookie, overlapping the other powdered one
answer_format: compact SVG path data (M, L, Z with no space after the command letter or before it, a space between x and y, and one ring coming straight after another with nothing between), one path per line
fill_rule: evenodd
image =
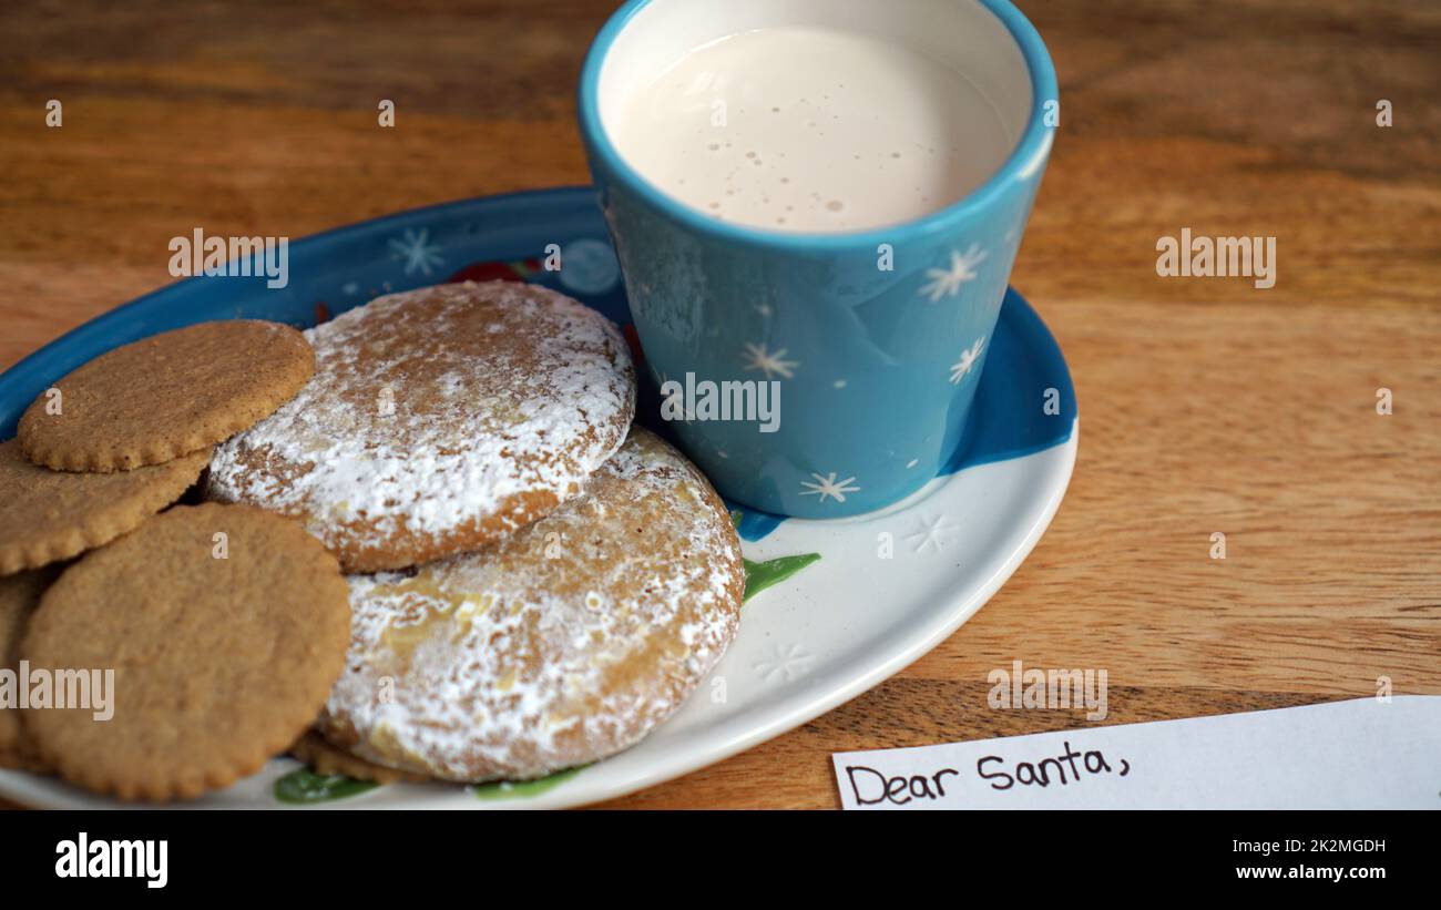
M535 285L391 294L307 337L316 377L216 449L209 495L303 518L347 572L474 550L539 518L634 413L615 327Z

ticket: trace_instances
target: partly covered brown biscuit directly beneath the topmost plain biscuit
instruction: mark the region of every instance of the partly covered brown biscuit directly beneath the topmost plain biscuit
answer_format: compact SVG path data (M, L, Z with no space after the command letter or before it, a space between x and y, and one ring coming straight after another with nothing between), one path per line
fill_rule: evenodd
M210 452L112 474L50 471L0 442L0 576L98 547L170 505Z

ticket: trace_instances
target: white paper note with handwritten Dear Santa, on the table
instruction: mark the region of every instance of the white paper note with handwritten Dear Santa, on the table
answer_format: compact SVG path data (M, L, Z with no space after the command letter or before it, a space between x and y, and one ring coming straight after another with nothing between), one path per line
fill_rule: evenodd
M1441 695L840 752L846 809L1441 809Z

